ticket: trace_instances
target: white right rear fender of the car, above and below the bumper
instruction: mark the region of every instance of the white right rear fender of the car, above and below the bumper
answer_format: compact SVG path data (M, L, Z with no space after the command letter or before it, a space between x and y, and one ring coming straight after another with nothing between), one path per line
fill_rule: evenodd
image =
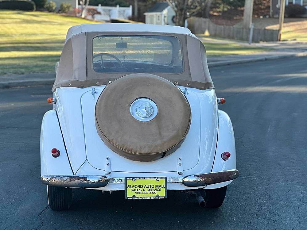
M219 131L217 138L216 154L213 162L212 172L226 171L236 169L235 156L235 136L231 124L231 120L227 113L218 110L219 115ZM228 160L223 160L221 155L223 152L230 152L231 156ZM208 185L206 189L216 189L230 184L232 181Z

